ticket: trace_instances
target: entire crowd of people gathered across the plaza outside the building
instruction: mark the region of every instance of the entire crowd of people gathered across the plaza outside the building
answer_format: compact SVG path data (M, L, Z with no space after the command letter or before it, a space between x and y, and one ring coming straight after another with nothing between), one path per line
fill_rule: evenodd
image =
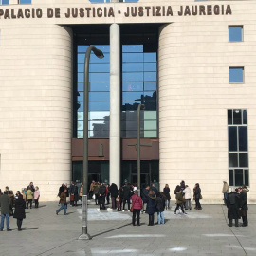
M61 207L56 210L58 215L61 210L64 210L66 215L67 198L69 197L70 206L82 206L83 186L71 181L70 186L63 183L59 188L58 197ZM226 181L223 182L224 203L228 207L229 227L232 227L232 220L235 220L235 226L238 227L238 220L242 217L243 227L248 225L247 220L247 186L243 185L237 189L232 189L229 192L229 185ZM193 196L192 196L193 195ZM130 210L133 212L132 223L134 226L140 226L140 213L149 215L149 226L155 225L155 213L157 213L157 224L164 224L164 210L170 210L170 188L166 184L162 192L155 188L155 184L146 185L140 194L136 184L126 183L118 188L117 184L104 184L92 181L89 187L88 196L90 200L94 200L96 205L99 205L100 210L105 210L106 205L110 204L111 209L118 211ZM202 210L200 199L202 199L199 183L196 183L193 190L182 180L174 189L175 210L182 212L184 215L188 213L185 210L192 210L192 199L195 201L195 210ZM9 228L9 216L17 219L18 230L21 231L23 219L26 218L25 209L39 207L40 191L37 186L34 187L33 182L30 182L27 188L17 191L15 194L9 190L7 186L4 192L0 189L0 206L1 206L1 225L0 231L4 229L6 220L7 230ZM111 199L110 199L111 198ZM13 211L14 209L14 211Z

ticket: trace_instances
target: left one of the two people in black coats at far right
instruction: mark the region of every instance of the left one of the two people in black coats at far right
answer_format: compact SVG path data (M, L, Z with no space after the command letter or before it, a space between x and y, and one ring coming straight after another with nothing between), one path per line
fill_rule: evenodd
M229 227L232 227L232 220L235 220L235 227L238 227L239 219L239 193L229 192L227 196Z

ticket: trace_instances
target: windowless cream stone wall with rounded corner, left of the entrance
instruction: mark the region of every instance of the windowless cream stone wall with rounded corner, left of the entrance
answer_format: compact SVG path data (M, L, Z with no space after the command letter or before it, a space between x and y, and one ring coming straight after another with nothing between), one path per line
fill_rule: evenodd
M52 200L70 180L72 33L57 25L0 29L0 188L33 181L41 200Z

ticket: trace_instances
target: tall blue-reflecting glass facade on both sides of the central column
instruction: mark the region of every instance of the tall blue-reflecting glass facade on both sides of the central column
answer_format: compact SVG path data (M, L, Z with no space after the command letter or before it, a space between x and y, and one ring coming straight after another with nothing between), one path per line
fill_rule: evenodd
M89 66L88 137L109 137L110 83L109 46L95 45L104 53L97 58L91 53ZM77 46L76 137L83 137L84 57L88 46ZM143 45L122 46L121 137L137 137L137 106L140 114L141 137L157 137L157 57L145 52Z

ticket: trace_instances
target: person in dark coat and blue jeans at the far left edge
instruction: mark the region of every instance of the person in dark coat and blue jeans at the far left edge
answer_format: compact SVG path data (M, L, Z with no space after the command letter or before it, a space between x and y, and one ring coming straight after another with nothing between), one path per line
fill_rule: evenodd
M0 196L0 207L1 207L1 225L0 231L4 229L5 219L7 222L7 231L11 231L9 229L9 213L12 211L12 203L11 199L8 196L8 191L5 191L3 195Z

